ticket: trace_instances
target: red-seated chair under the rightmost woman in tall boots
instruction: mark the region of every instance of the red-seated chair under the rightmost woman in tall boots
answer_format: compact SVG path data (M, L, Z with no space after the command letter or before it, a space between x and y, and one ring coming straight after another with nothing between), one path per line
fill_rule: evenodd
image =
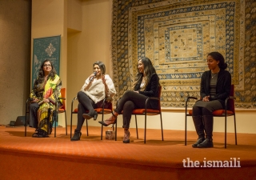
M190 99L197 100L198 98L195 97L186 97L186 105L185 105L185 146L186 146L186 119L188 116L192 116L192 110L187 110L187 103ZM235 145L237 145L237 128L235 122L235 110L234 110L234 85L231 85L230 89L230 96L226 98L225 101L225 109L224 110L214 110L213 115L214 117L224 117L225 118L225 148L226 148L226 118L228 116L234 116L234 138L235 138Z

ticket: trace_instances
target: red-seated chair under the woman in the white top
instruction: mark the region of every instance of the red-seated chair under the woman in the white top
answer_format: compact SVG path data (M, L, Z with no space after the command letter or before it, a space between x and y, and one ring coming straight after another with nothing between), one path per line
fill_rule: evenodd
M75 108L73 110L74 100L76 100L76 99L77 98L73 98L73 100L71 102L70 138L72 138L72 122L73 122L72 117L73 117L73 114L78 114L78 108ZM104 114L112 114L113 113L112 103L110 103L110 109L106 109L106 108L104 108L105 101L106 101L106 99L103 100L101 108L94 109L95 111L97 111L98 114L102 114L102 121L104 121ZM114 130L114 126L112 126L112 127L113 127L113 130ZM117 123L115 124L115 129L117 129ZM88 133L88 119L86 119L86 134L87 134L87 136L89 135L89 133ZM102 126L101 140L102 140L102 134L103 134L103 126ZM117 130L115 130L115 140L117 140Z

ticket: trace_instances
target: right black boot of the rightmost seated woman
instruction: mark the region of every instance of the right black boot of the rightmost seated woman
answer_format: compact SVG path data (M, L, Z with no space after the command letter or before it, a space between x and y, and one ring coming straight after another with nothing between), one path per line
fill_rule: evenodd
M214 117L212 115L203 116L203 122L206 131L206 140L201 144L198 144L199 148L214 147L213 143L213 129L214 129Z

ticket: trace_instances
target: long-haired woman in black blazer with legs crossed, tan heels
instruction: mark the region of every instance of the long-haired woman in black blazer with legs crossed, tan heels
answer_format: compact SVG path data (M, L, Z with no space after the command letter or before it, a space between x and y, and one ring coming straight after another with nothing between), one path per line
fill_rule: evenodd
M114 110L114 114L104 122L103 126L115 124L118 114L122 113L124 137L123 143L130 142L130 118L134 109L144 109L146 98L158 95L159 78L149 58L138 59L138 74L135 77L134 90L127 90ZM150 100L149 109L158 109L158 101ZM123 112L122 112L123 111Z

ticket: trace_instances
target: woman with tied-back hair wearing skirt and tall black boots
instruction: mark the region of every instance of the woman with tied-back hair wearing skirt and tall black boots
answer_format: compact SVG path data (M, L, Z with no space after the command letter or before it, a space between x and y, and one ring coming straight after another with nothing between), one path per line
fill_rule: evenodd
M201 100L193 106L192 118L198 141L192 147L213 147L214 110L224 109L225 100L229 97L231 75L226 69L227 64L218 52L207 55L207 65L210 70L202 74L200 96Z

